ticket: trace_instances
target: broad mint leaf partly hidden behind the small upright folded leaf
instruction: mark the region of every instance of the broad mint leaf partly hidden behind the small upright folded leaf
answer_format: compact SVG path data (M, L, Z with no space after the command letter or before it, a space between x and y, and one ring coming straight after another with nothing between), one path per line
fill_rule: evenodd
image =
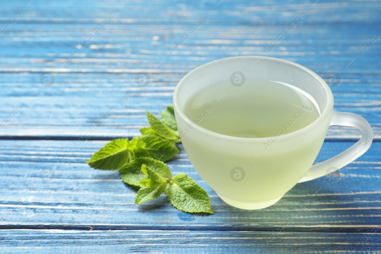
M171 171L168 169L168 166L162 161L158 161L152 158L142 157L136 158L124 165L120 172L120 178L122 178L123 182L126 184L134 185L134 186L144 186L145 184L140 183L142 179L147 178L144 172L141 170L142 165L146 165L150 168L150 171L154 171L159 176L168 179L170 178Z

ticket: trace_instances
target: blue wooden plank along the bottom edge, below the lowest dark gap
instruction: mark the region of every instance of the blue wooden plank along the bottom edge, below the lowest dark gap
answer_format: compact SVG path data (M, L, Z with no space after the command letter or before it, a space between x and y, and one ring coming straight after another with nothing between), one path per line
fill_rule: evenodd
M192 222L188 222L189 228ZM261 231L0 230L13 253L379 253L380 234ZM364 239L368 239L366 242Z

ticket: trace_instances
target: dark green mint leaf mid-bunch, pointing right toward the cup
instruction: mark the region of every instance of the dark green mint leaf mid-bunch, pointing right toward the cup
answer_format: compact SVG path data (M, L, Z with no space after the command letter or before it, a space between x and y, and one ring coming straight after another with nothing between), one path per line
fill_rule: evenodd
M171 143L171 141L163 139L157 135L144 134L141 139L144 143L146 143L146 147L144 149L149 153L149 157L156 160L165 162L180 152L179 149Z

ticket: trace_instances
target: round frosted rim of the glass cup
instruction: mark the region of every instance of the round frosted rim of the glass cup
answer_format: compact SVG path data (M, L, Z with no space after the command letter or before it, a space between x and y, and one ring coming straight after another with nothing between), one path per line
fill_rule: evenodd
M278 61L278 62L282 62L283 64L294 65L294 66L298 67L299 69L301 69L305 72L308 72L310 75L312 75L314 78L316 78L316 80L319 82L319 84L323 87L323 90L325 91L325 96L327 97L327 104L325 105L325 109L323 110L321 115L315 121L313 121L312 123L310 123L309 125L301 128L301 129L298 129L298 130L293 131L291 133L282 134L281 137L283 137L284 139L301 136L301 135L311 131L312 129L319 126L324 120L326 120L331 115L331 113L333 111L333 94L332 94L332 91L329 88L329 86L327 85L327 83L325 82L325 80L323 80L317 73L313 72L312 70L308 69L307 67L304 67L303 65L297 64L296 62L291 62L291 61L288 61L285 59L273 58L273 57L269 57L269 56L232 56L229 58L217 59L215 61L207 62L206 64L200 65L199 67L191 70L184 77L181 78L181 80L176 85L176 88L174 89L174 92L173 92L173 108L174 108L174 111L178 114L178 116L182 118L182 120L184 120L186 123L192 122L192 120L189 119L185 115L185 113L181 110L180 105L179 105L179 101L178 101L179 91L180 91L180 88L183 85L184 81L187 78L189 78L194 72L197 72L197 70L199 70L203 67L207 67L208 65L215 64L216 62L229 61L231 59L236 59L236 58L255 58L255 59L256 58L266 58L266 59L271 60L271 61ZM214 137L217 137L219 139L225 139L225 140L231 140L231 141L232 140L235 140L235 141L239 140L239 141L243 141L243 142L244 141L266 142L269 137L272 137L272 136L269 136L269 137L235 137L235 136L229 136L229 135L225 135L225 134L216 133L214 131L210 131L208 129L205 129L199 125L194 126L194 128L197 129L198 131L204 133L204 134L208 134L210 136L214 136Z

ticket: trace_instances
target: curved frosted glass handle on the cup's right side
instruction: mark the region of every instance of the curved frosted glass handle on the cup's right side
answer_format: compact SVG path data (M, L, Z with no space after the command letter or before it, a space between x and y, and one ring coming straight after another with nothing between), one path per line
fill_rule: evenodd
M330 125L350 126L357 128L361 131L362 137L344 152L339 153L335 157L328 160L312 165L299 182L306 182L325 176L328 173L330 174L332 172L327 172L330 167L335 167L337 169L343 168L363 155L363 153L365 153L372 144L373 130L368 121L360 115L333 111Z

